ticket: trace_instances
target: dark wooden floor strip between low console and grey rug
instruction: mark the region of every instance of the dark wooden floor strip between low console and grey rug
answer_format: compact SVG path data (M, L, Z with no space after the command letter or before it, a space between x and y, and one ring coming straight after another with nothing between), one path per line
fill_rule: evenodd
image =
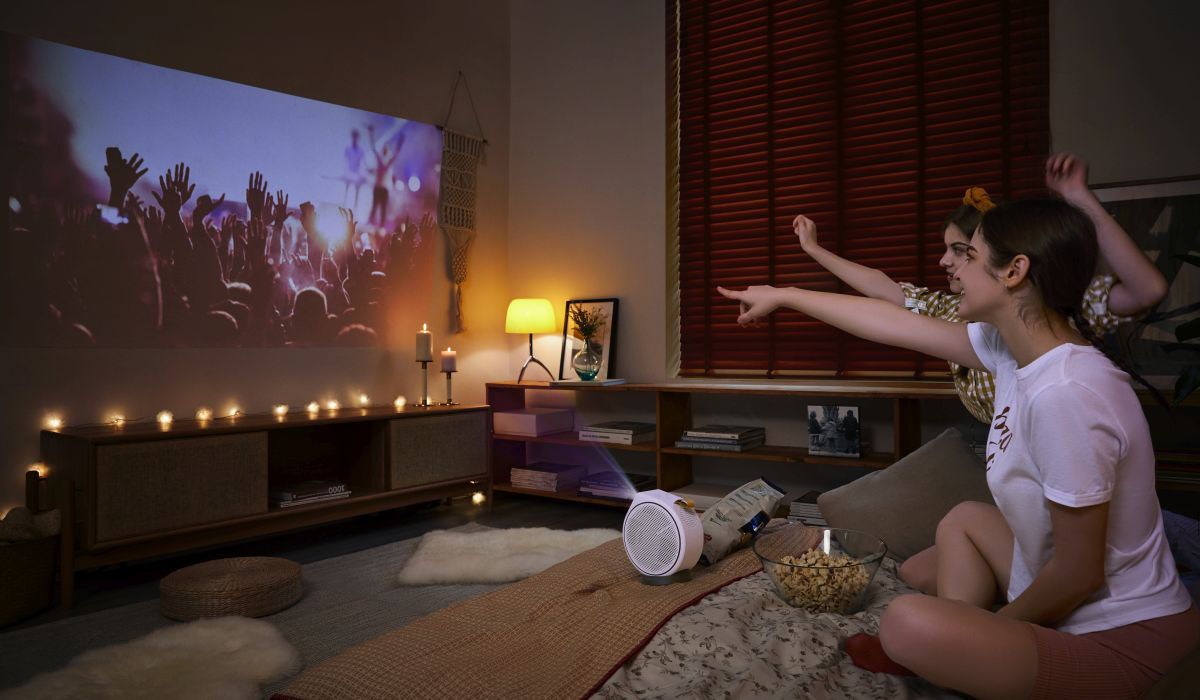
M568 503L497 493L492 511L456 498L397 508L298 530L270 538L238 543L218 549L188 552L173 557L104 567L76 575L76 604L71 610L56 605L6 630L42 624L64 617L86 615L130 603L158 597L158 581L167 574L198 562L223 557L276 556L306 564L382 544L420 537L431 530L446 530L478 522L488 527L551 527L578 530L611 527L620 530L625 510L586 503Z

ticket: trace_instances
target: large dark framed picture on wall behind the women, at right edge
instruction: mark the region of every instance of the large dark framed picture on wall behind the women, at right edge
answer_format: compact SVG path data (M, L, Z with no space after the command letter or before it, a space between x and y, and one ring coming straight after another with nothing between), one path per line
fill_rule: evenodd
M1121 323L1105 341L1159 389L1177 387L1184 375L1194 385L1200 379L1195 370L1200 337L1189 339L1187 329L1178 335L1176 330L1200 318L1200 264L1195 262L1200 251L1200 175L1094 185L1092 190L1168 283L1166 298L1158 306Z

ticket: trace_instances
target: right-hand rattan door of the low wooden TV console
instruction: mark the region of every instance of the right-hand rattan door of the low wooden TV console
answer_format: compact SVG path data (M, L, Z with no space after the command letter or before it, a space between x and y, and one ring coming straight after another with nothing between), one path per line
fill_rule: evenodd
M487 472L487 412L392 420L389 483L408 489Z

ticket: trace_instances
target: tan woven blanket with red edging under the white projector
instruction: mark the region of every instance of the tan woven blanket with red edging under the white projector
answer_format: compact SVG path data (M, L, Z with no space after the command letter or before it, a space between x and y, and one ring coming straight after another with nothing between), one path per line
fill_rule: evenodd
M352 647L276 698L586 698L672 615L760 570L742 550L647 586L613 540Z

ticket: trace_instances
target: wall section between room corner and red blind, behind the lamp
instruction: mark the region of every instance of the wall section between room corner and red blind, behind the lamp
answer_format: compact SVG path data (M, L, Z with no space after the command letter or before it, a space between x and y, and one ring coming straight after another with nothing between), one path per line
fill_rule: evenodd
M619 298L617 375L640 382L666 376L664 25L662 0L512 4L509 287ZM560 348L535 339L554 372Z

